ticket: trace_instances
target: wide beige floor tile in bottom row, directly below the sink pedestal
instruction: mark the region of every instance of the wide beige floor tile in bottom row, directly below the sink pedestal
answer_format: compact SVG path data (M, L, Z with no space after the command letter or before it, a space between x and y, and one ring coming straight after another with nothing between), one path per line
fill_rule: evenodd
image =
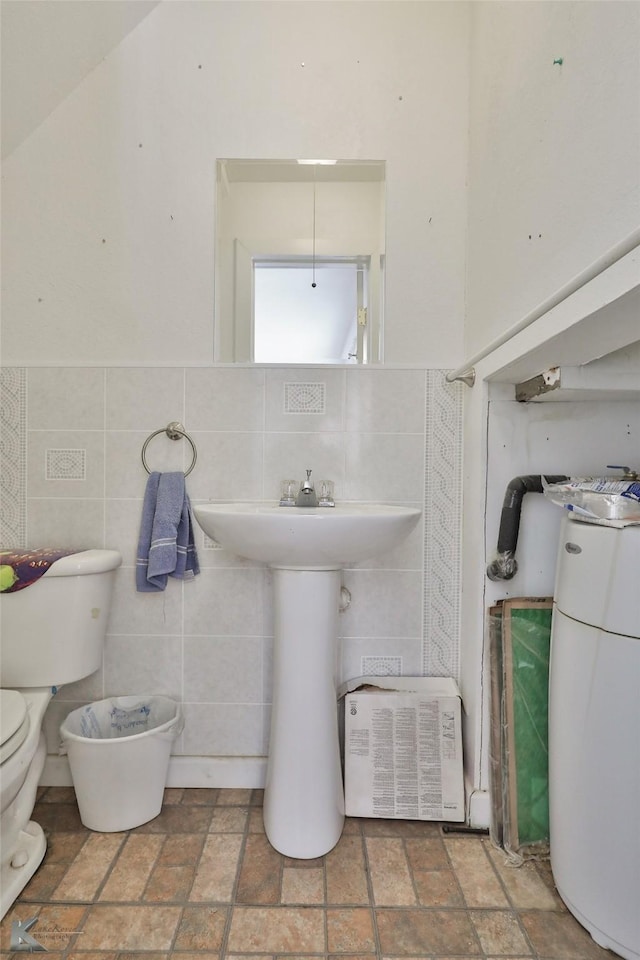
M321 907L234 907L228 950L323 953L324 923Z

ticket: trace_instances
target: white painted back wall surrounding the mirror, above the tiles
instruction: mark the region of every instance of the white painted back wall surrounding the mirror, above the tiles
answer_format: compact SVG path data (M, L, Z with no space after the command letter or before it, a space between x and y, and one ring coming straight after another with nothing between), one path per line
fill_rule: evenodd
M454 365L467 99L465 3L159 4L4 164L3 362L211 361L216 158L319 156L387 161L386 359Z

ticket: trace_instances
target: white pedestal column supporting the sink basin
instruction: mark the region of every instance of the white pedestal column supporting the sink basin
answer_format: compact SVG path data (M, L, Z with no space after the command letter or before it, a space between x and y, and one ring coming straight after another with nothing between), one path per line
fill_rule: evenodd
M311 859L344 825L338 741L340 570L274 568L274 679L264 825L272 846Z

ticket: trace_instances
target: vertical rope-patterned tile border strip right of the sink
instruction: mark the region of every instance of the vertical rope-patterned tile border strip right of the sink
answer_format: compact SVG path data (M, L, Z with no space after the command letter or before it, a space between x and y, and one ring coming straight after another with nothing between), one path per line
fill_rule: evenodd
M462 390L427 371L424 494L423 673L460 672Z

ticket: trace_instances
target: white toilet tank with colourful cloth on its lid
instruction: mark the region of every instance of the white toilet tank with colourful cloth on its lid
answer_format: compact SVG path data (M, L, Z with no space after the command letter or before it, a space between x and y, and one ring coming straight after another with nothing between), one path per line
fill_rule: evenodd
M102 665L117 550L61 557L39 580L0 593L0 684L72 683Z

